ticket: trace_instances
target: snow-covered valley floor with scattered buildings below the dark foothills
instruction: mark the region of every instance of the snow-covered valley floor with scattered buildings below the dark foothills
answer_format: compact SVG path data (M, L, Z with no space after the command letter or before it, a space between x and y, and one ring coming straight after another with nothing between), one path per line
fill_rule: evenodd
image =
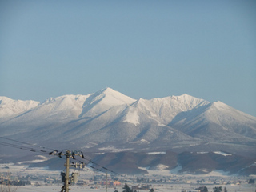
M70 173L73 170L70 170ZM77 171L77 170L74 170ZM3 175L4 173L10 173L12 177L17 177L18 175L30 175L31 177L34 175L38 177L38 181L32 181L31 185L27 186L18 186L16 189L14 186L10 186L10 191L16 190L16 192L30 192L30 191L61 191L62 182L55 182L54 184L46 183L43 181L43 178L57 178L60 179L60 171L50 171L46 169L38 169L38 168L29 168L28 166L19 163L17 165L13 163L9 164L0 164L0 174ZM81 179L90 179L94 177L94 172L90 171L88 169L79 171L79 178ZM96 174L96 173L95 173ZM98 174L98 173L97 173ZM104 175L104 174L102 174ZM183 174L183 175L177 175L172 174L170 171L167 170L150 170L149 174L145 175L122 175L121 179L126 178L127 182L122 182L121 186L108 186L106 189L106 186L99 186L94 185L90 183L90 186L83 185L73 185L70 186L70 191L72 192L80 192L80 191L86 191L86 192L114 192L115 190L118 190L118 192L122 192L122 187L127 183L128 186L137 186L140 183L136 182L136 178L145 177L150 179L156 179L159 178L172 178L172 179L178 179L179 181L182 181L184 183L149 183L150 188L153 188L155 192L181 192L182 190L188 191L195 191L196 188L199 186L206 186L208 188L208 191L213 191L213 188L215 186L222 186L222 190L226 187L227 191L237 191L237 192L255 192L256 186L248 184L249 178L256 178L255 175L252 175L251 177L238 177L238 176L229 176L226 175L226 173L222 173L221 171L214 171L207 175L190 175L190 174ZM134 179L135 178L135 179ZM134 179L134 180L133 180ZM203 179L205 180L205 183L197 183L197 180ZM129 180L129 181L128 181ZM185 182L186 181L186 182ZM209 182L211 181L211 182ZM214 183L212 181L218 181L223 182L222 184ZM227 181L232 182L232 184L226 184ZM236 183L237 182L237 183ZM36 186L36 183L39 185ZM147 185L141 184L141 185ZM6 187L6 186L2 186ZM149 190L138 190L139 192L149 192Z

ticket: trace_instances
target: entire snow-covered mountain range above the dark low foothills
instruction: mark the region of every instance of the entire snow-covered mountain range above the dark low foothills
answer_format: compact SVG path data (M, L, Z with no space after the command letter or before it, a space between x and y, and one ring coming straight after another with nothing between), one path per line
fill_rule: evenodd
M106 88L45 102L0 97L0 131L6 138L60 150L222 150L256 158L255 117L187 94L136 100Z

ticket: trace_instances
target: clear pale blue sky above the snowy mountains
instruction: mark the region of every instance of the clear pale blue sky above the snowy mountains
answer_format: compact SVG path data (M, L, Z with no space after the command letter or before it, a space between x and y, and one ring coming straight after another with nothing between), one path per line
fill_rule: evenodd
M256 116L256 1L0 1L0 95L111 87L190 94Z

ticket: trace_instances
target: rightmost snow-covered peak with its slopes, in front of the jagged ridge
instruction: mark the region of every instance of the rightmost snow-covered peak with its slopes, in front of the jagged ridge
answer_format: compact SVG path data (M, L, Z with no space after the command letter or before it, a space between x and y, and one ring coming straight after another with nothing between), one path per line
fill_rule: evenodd
M169 126L205 140L254 142L256 138L256 118L222 102L178 114Z

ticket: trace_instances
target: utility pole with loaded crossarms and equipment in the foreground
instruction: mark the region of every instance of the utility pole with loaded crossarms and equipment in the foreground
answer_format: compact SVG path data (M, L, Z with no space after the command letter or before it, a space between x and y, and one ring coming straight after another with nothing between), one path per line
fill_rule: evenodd
M62 155L65 155L66 156L66 163L65 163L65 167L66 167L66 174L65 174L65 179L64 179L64 186L62 187L62 191L65 191L65 192L69 192L69 186L70 186L70 180L74 181L74 178L77 179L77 174L73 173L71 178L70 178L70 166L73 166L75 168L77 168L78 166L80 168L83 168L85 167L85 164L82 162L82 163L75 163L74 165L70 165L70 158L74 158L74 156L80 156L81 158L84 158L82 152L78 152L78 151L70 151L70 150L66 150L66 154L64 153L58 153L57 151L53 151L53 152L50 152L50 154L52 155L57 155L59 158L62 158ZM64 173L62 173L62 176Z

